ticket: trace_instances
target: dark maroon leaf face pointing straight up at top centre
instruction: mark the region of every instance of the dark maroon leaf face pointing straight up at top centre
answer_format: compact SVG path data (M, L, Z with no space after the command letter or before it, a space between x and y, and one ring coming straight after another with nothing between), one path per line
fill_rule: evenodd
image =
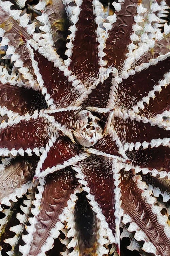
M86 10L86 12L84 12ZM70 69L79 79L86 80L97 75L99 71L97 25L94 22L94 6L92 0L82 2L77 31L73 41ZM91 78L90 78L91 79Z

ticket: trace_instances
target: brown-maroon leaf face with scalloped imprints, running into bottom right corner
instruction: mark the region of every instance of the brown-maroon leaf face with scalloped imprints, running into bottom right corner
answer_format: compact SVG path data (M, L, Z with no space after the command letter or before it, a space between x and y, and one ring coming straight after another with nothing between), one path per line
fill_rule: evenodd
M157 254L168 256L169 240L164 232L162 224L158 223L156 214L152 211L151 205L141 195L142 190L133 179L133 174L123 173L121 180L122 207L124 213L130 215L140 229L145 232L147 239L156 247Z

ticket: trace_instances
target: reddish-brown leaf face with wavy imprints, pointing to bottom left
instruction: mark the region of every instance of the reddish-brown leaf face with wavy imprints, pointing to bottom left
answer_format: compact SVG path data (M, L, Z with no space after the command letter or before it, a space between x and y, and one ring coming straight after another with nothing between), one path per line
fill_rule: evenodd
M41 211L36 217L30 255L38 255L41 252L41 247L50 236L51 229L60 221L59 216L67 206L70 194L74 192L76 186L74 172L69 167L47 176L40 205Z

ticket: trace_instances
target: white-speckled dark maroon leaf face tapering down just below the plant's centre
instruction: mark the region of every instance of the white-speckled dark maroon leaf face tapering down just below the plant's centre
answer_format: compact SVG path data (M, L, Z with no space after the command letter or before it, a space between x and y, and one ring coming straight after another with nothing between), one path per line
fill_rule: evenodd
M90 192L115 236L115 195L111 163L101 156L91 156L81 162Z

